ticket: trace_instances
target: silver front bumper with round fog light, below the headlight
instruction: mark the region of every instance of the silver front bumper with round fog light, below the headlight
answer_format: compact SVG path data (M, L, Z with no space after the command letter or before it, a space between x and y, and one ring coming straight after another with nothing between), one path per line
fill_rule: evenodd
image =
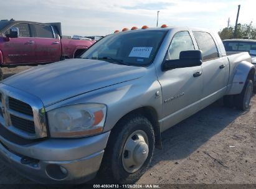
M86 137L82 139L46 140L46 144L49 144L47 141L52 140L52 145L48 146L48 149L44 148L44 151L41 153L41 155L48 155L44 155L39 159L35 158L38 155L33 155L32 150L30 156L28 156L27 153L26 155L22 154L22 151L24 151L22 150L24 146L22 146L20 150L17 150L17 144L11 144L11 142L6 142L6 139L3 139L2 136L0 136L0 159L7 166L14 168L14 170L22 173L22 175L24 175L25 177L39 183L83 183L95 177L98 169L100 168L103 152L105 146L107 145L109 134L110 132L106 132L98 136ZM86 147L87 145L90 145L90 147L94 146L95 150L93 150L94 152L92 152L90 149L88 149L88 151L90 151L90 154L88 154L87 150L84 150L84 155L82 157L80 157L79 159L70 160L70 157L74 157L73 153L76 152L77 149L70 149L69 146L65 146L64 141L69 140L71 146L73 147L75 144L83 144L83 147ZM41 142L40 144L41 147L45 145L44 142ZM16 147L15 151L13 150L13 145ZM77 147L81 148L81 146ZM100 147L100 149L98 149L97 147ZM27 146L27 149L32 148ZM62 157L62 160L59 160L59 153L64 155L64 157ZM80 152L79 154L82 154L82 152ZM55 160L51 158L54 156L56 157ZM49 157L50 160L45 160L45 157ZM66 160L64 160L63 158Z

